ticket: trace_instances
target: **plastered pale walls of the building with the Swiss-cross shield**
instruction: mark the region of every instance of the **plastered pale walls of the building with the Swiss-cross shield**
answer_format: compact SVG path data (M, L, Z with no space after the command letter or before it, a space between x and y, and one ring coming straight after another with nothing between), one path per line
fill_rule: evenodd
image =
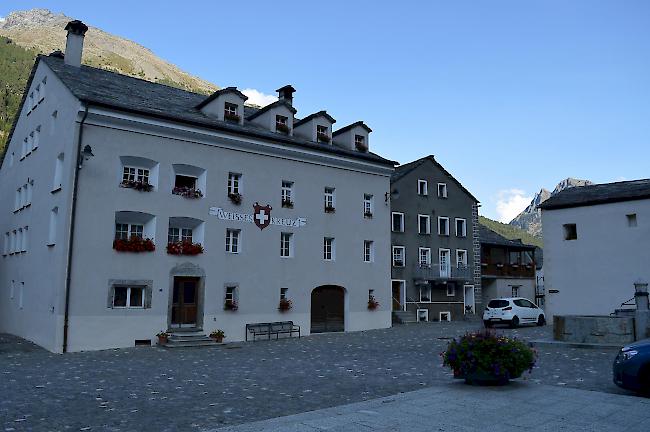
M206 334L223 329L226 341L244 340L245 325L257 322L292 320L309 334L312 293L321 286L344 292L345 331L390 326L390 211L383 202L390 164L86 105L44 61L28 94L43 80L47 95L34 108L24 104L0 169L0 193L9 198L0 202L0 332L61 352L67 309L69 351L154 340L175 325L174 287L184 277L197 284L195 326ZM37 128L40 145L22 157L23 139ZM86 145L94 156L76 170ZM121 187L125 168L135 176L147 170L153 189ZM239 176L239 205L228 197L231 174ZM203 196L172 194L177 175L195 177ZM282 206L288 183L292 208ZM29 204L21 202L24 185ZM335 212L324 211L325 188L334 191ZM364 218L369 195L371 219ZM256 203L281 219L260 229L251 222ZM173 227L192 229L204 252L168 254ZM155 251L116 251L121 229L140 229ZM236 253L232 238L227 250L228 230L238 232ZM289 257L281 256L282 233L291 234ZM326 238L334 239L331 259L324 259ZM141 289L143 298L120 307L118 289L134 298ZM293 304L284 313L281 292ZM237 311L224 310L230 295ZM379 309L369 310L370 295Z

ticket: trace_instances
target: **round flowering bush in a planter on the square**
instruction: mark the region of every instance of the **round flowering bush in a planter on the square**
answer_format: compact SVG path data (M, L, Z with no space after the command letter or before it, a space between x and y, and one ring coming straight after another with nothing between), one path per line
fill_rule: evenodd
M441 356L443 366L449 366L457 378L478 375L508 380L532 372L536 352L520 340L484 331L454 339Z

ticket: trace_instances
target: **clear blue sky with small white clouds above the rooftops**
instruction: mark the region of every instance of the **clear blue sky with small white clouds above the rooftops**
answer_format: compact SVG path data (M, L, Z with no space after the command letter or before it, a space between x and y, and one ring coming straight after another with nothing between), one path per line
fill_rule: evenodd
M298 115L364 120L436 158L506 220L566 177L648 178L650 2L3 0L134 40L219 86L296 89Z

